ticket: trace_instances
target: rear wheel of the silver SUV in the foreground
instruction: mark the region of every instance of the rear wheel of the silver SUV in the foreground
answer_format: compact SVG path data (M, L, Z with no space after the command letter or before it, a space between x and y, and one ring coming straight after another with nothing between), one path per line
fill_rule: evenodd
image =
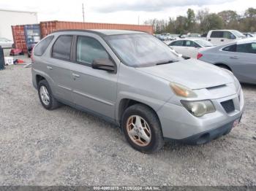
M46 93L48 95L48 101L45 101L45 99L43 100L43 96L42 96L42 90L46 89L48 93ZM48 82L45 79L42 79L39 83L38 83L38 95L39 95L39 100L42 104L42 106L45 109L48 110L53 110L56 109L60 106L59 101L56 100L56 98L53 97L53 93L50 90L50 85L48 85ZM48 103L48 104L47 104Z

